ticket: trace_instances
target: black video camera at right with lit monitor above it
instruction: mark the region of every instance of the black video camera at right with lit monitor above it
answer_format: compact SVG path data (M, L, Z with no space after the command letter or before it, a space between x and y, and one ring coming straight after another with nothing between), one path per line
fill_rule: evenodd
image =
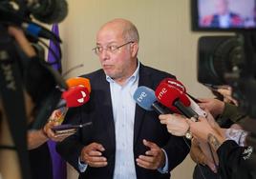
M229 85L240 109L256 117L256 1L191 0L192 30L235 32L203 36L198 43L198 81Z

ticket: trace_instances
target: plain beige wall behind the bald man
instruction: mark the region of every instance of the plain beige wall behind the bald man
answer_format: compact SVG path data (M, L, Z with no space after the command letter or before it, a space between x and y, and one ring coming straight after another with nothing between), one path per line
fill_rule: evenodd
M195 97L210 92L197 82L197 40L203 33L190 30L189 0L72 0L69 15L60 26L64 41L64 71L79 64L69 77L100 68L92 49L96 31L114 18L134 22L140 33L139 60L148 66L175 74ZM205 35L205 34L204 34ZM188 157L172 178L192 178L193 162ZM70 171L69 178L75 173Z

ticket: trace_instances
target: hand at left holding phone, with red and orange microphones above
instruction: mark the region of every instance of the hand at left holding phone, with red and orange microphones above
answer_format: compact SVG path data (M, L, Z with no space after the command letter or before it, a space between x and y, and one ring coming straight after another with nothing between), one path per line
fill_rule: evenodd
M69 108L80 107L86 104L90 99L90 80L82 77L70 78L66 81L69 89L62 93L62 100L57 105L50 117L49 123L44 131L53 141L62 141L69 135L72 135L80 127L75 125L60 125ZM81 125L81 128L85 125Z

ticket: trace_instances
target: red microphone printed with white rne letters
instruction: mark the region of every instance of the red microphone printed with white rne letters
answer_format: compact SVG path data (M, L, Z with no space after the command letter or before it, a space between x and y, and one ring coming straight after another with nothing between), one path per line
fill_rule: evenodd
M194 117L198 119L199 115L189 107L190 101L182 90L161 83L155 94L163 106L169 109L178 109L187 118Z

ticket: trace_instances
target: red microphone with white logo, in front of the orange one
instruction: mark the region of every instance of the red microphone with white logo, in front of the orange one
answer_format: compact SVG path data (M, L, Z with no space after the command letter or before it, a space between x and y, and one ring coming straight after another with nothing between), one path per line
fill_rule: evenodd
M89 91L85 87L74 87L62 92L62 99L56 109L67 107L74 108L86 104L89 99Z

